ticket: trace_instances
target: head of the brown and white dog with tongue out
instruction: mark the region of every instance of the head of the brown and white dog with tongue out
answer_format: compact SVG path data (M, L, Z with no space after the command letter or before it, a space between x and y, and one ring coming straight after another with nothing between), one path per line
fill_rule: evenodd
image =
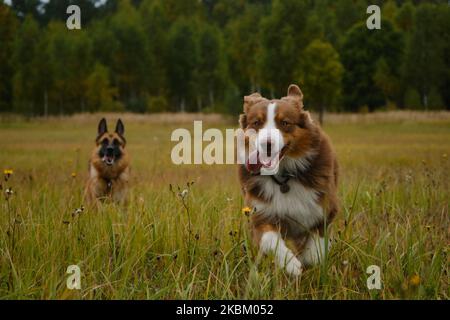
M267 100L258 93L244 98L241 126L246 131L253 129L256 135L249 138L246 166L250 172L276 174L285 156L297 158L307 152L312 121L303 111L302 98L295 85L279 100Z

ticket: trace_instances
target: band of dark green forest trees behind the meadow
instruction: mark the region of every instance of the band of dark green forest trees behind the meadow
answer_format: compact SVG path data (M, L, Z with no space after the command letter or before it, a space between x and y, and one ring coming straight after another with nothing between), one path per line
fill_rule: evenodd
M445 1L10 3L0 4L1 111L237 113L243 95L279 97L294 82L316 110L450 108ZM69 4L81 30L65 26ZM369 4L382 7L381 30L366 27Z

